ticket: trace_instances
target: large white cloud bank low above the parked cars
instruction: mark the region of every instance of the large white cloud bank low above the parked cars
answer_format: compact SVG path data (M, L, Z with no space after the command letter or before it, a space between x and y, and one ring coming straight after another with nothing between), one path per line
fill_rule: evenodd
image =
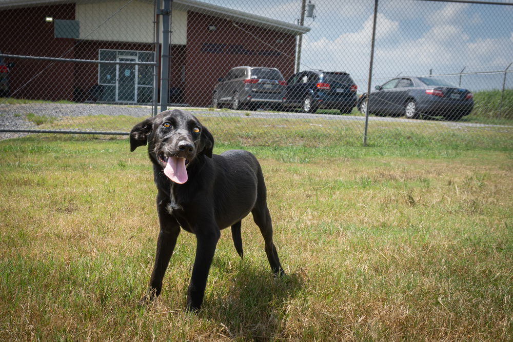
M467 71L505 68L511 62L513 33L497 38L472 37L463 29L463 19L460 18L465 16L466 8L460 4L444 6L431 15L432 25L416 38L411 38L411 32L402 31L399 21L379 13L374 74L393 77L399 73L426 74L429 69L452 73L464 66ZM356 31L340 34L334 39L326 36L314 39L313 35L306 34L302 69L347 71L354 78L366 78L371 34L372 15Z

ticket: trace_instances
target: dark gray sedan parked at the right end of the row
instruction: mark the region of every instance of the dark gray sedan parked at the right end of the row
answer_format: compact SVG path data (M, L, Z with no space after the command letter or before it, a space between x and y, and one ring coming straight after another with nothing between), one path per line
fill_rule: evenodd
M463 88L431 77L399 77L376 86L369 96L369 113L379 116L405 115L407 118L443 116L459 120L470 114L473 95ZM358 109L367 110L367 93L358 100Z

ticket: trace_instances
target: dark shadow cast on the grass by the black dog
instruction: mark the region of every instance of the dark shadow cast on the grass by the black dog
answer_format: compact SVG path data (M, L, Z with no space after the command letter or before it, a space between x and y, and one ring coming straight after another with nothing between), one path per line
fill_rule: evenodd
M216 265L218 263L223 262L214 259L212 267L222 268L222 265ZM303 288L301 271L290 271L277 277L268 267L244 259L230 278L227 293L205 298L204 308L208 308L203 312L205 318L219 320L223 335L230 338L279 338L291 300Z

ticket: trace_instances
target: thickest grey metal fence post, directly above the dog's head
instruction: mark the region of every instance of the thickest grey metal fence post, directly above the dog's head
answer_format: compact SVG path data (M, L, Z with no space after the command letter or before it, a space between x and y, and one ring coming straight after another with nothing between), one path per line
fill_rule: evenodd
M169 101L169 38L171 35L171 2L164 0L162 14L162 59L161 59L161 112L167 110Z

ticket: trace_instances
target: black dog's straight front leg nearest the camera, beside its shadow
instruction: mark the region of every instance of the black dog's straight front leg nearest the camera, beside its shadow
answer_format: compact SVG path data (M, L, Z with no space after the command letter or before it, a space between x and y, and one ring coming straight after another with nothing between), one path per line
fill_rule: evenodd
M201 308L210 264L212 264L215 246L218 244L220 236L221 232L218 227L209 232L196 233L196 258L187 289L186 309L189 311L198 311Z

